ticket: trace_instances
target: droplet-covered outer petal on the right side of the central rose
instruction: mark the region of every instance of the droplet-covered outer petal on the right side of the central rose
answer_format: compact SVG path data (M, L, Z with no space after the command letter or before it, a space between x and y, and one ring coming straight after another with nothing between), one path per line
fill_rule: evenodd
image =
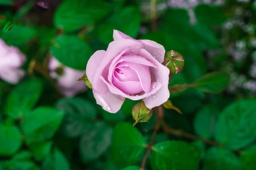
M148 51L146 51L145 49L140 50L140 55L148 59L152 59L151 54L149 54ZM143 99L147 108L154 108L156 106L159 106L164 102L166 102L170 97L170 92L168 89L169 73L170 73L169 69L160 63L158 64L157 69L156 68L153 68L153 69L154 71L152 72L155 73L155 77L156 77L155 79L157 80L157 82L160 82L162 86L156 93Z

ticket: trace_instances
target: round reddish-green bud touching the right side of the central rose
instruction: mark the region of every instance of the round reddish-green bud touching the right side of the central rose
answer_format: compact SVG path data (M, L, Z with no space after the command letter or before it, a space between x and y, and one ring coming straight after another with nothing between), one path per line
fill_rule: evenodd
M184 68L184 58L177 51L168 51L164 55L163 65L170 70L170 74L178 74Z

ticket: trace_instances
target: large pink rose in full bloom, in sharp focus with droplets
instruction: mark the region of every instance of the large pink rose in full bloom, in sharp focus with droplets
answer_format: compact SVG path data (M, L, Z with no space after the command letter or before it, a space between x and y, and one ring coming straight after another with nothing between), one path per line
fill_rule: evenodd
M166 102L169 69L162 65L165 49L151 40L135 40L114 30L107 51L96 51L89 59L86 74L97 104L116 113L125 98L143 99L148 108Z

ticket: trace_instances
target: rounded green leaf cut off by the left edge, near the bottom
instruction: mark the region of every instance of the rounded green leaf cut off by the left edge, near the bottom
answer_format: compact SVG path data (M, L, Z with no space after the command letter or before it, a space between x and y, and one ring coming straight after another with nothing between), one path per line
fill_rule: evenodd
M20 130L15 125L0 125L0 155L11 156L21 145Z

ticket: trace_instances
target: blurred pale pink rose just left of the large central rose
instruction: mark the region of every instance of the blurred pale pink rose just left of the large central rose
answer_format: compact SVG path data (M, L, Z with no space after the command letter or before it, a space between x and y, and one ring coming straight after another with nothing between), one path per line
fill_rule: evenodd
M87 89L83 81L77 81L84 76L85 71L64 66L55 57L50 57L48 66L50 76L57 79L58 91L64 96L72 97Z

